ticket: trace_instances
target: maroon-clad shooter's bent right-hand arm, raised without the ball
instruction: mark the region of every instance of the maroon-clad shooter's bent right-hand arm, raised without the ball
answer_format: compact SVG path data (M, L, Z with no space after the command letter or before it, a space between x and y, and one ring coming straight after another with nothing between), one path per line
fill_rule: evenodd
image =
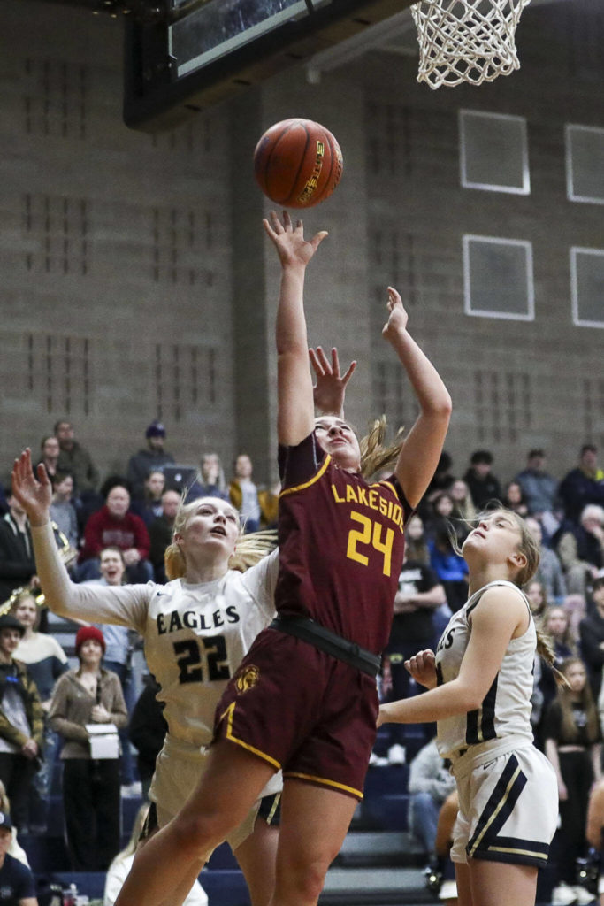
M434 365L407 331L407 312L397 290L388 286L388 322L383 336L398 355L419 403L419 415L403 443L395 475L407 501L417 506L445 443L451 397Z

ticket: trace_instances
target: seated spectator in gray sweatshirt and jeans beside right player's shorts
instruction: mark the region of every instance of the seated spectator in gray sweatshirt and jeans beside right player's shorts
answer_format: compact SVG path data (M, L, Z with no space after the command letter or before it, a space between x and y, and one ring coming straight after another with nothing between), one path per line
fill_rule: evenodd
M421 748L409 766L409 830L433 855L438 814L455 788L455 778L436 748L436 739Z

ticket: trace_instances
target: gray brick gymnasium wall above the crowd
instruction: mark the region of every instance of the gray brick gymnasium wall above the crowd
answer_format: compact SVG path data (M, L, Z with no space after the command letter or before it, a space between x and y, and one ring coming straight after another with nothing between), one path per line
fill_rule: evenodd
M251 154L290 116L323 122L344 153L340 187L304 219L330 230L309 331L360 361L350 419L415 417L379 335L395 284L454 398L455 473L488 447L506 479L543 446L561 474L582 442L604 444L604 333L573 326L569 265L570 246L604 248L604 207L567 200L564 165L566 122L604 127L593 0L529 7L522 69L493 84L430 92L415 57L372 52L319 84L286 72L155 138L121 124L119 21L5 0L0 34L0 472L64 415L105 472L158 416L179 461L216 448L228 471L245 448L259 479L274 471L278 266ZM530 195L460 186L460 108L526 118ZM465 315L468 233L532 242L534 321Z

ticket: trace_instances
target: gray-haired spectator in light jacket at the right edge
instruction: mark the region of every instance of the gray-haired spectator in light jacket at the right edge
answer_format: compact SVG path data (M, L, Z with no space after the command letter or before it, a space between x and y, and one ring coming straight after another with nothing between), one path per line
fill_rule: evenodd
M589 504L581 510L580 525L561 534L558 554L569 592L584 595L604 567L604 507Z

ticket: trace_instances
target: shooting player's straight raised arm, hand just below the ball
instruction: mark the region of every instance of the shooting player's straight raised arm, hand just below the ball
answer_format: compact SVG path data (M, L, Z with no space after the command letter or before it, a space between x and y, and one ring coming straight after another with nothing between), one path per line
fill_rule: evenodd
M287 211L283 211L283 222L271 211L270 219L264 220L263 224L282 266L276 324L277 434L279 443L295 446L308 437L314 425L303 304L304 274L306 265L327 233L323 230L311 240L304 239L302 220L292 226Z

